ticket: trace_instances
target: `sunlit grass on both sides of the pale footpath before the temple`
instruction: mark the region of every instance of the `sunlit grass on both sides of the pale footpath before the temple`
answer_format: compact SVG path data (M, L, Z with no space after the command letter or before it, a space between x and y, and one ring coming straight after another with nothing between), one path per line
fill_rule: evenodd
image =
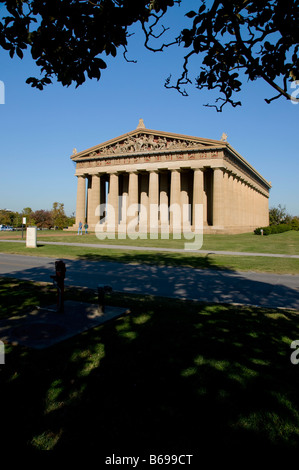
M0 239L4 239L2 232ZM44 232L43 232L44 233ZM12 232L12 237L20 235ZM207 238L207 240L206 240ZM100 261L119 261L123 263L149 263L157 265L189 266L194 268L230 269L236 271L259 271L272 272L277 274L299 274L299 259L270 258L262 256L231 256L217 254L197 254L197 253L170 253L170 252L150 252L146 247L155 242L160 247L173 248L178 240L143 240L144 250L134 251L127 249L107 249L101 248L101 243L93 234L87 236L69 235L67 232L47 232L46 236L38 236L41 245L38 248L26 248L21 243L0 243L0 252L26 254L34 256L49 256L55 258L75 258ZM56 241L65 243L98 243L99 248L42 245L43 241ZM130 246L137 245L137 240L121 240L123 245L126 242ZM183 241L180 241L182 248ZM103 242L106 244L106 241ZM103 244L102 243L102 244ZM115 240L119 244L120 241ZM139 240L139 244L141 240ZM204 237L203 249L211 250L231 250L241 252L259 253L281 253L298 254L299 232L285 232L282 234L261 237L253 234L242 235L207 235Z

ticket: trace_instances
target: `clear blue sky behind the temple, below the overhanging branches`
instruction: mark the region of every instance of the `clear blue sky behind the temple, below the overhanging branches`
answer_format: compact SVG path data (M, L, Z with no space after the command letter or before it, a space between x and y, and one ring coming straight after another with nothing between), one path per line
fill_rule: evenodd
M186 11L198 4L185 3ZM169 26L178 27L184 11L182 6L180 16L173 11ZM99 82L88 80L77 89L59 83L43 91L33 89L26 78L39 72L30 55L10 59L0 51L0 80L5 84L5 104L0 104L0 208L49 210L57 201L70 215L77 190L73 148L79 152L134 130L143 118L147 128L166 132L211 139L225 132L232 147L271 181L270 207L281 204L299 215L299 104L285 99L265 103L275 91L256 81L237 95L242 107L226 105L217 113L203 106L213 103L209 91L188 88L189 96L183 97L164 88L169 74L181 70L183 48L152 53L142 41L138 33L130 38L129 57L137 64L125 62L119 51L116 59L108 60Z

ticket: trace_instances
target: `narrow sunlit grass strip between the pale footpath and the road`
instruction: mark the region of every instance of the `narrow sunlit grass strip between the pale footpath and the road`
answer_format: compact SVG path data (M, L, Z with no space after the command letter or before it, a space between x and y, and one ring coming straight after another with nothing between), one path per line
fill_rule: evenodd
M59 245L38 245L37 248L26 248L24 244L11 242L0 242L0 252L64 259L145 263L158 266L187 266L199 269L299 274L299 259L296 258L152 252L146 251L146 248L144 251Z

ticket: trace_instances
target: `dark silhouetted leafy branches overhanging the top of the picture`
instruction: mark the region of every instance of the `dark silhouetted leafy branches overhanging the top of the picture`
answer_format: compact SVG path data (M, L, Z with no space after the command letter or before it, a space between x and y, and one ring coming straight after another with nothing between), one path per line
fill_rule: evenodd
M187 95L191 84L190 61L196 57L198 76L194 83L219 91L220 106L240 105L233 93L242 81L261 78L275 89L276 95L292 100L289 88L299 86L299 4L297 0L201 0L198 11L187 13L188 27L168 43L154 46L168 28L160 26L167 10L175 3L188 8L188 0L6 0L7 13L0 23L0 47L11 57L23 57L30 49L43 73L28 78L33 87L43 89L53 77L64 86L81 85L88 78L101 77L106 63L101 55L127 52L129 27L140 23L145 47L163 51L170 45L188 49L182 74L171 84ZM190 21L192 24L190 25ZM297 86L297 85L295 85ZM297 101L297 100L296 100Z

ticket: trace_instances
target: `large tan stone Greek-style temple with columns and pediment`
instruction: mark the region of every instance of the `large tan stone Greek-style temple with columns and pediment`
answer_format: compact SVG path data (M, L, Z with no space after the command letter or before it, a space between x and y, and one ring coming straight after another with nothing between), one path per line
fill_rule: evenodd
M82 152L74 149L71 159L78 180L73 229L81 221L90 231L123 231L132 205L138 207L140 232L149 232L152 223L158 231L179 229L183 211L171 207L183 205L189 207L184 217L190 231L200 204L204 233L242 233L269 224L271 184L225 134L212 140L155 131L140 119L131 132Z

